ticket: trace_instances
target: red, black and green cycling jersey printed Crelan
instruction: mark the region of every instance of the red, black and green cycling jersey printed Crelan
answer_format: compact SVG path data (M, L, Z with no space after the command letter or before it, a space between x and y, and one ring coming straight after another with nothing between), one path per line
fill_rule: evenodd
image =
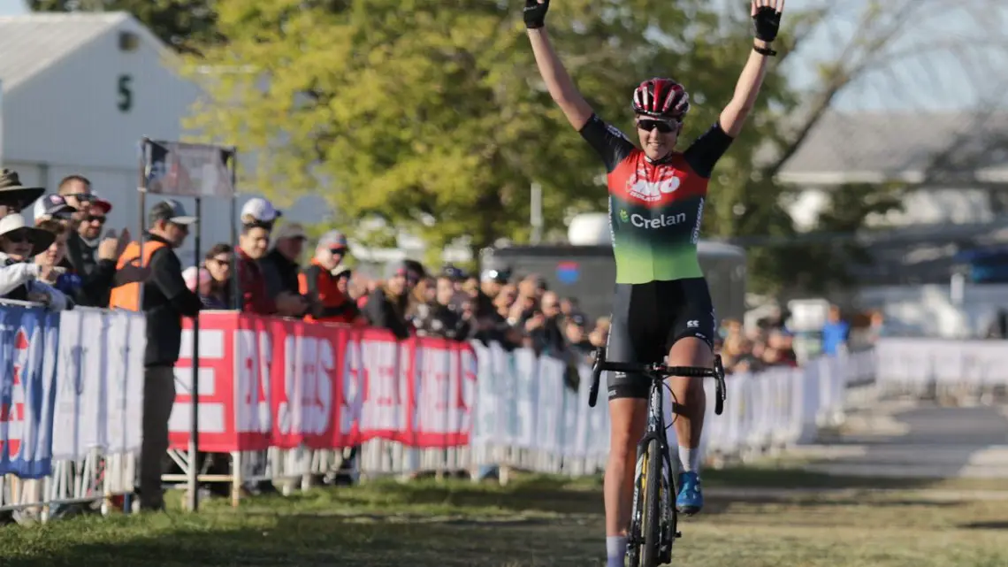
M707 186L732 137L715 123L685 151L651 161L596 115L581 135L606 164L616 282L702 277L697 240Z

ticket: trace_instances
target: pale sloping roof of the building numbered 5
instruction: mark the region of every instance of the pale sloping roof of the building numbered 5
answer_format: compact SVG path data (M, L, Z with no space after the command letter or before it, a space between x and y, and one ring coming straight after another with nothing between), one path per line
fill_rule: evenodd
M166 46L127 12L0 16L0 83L9 93L124 22L162 51Z

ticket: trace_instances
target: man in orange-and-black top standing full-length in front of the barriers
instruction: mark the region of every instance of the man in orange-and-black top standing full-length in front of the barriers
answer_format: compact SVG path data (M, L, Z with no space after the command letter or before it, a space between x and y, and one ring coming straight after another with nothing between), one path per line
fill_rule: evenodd
M130 242L119 265L149 266L150 278L112 292L109 306L143 311L147 318L144 353L143 440L140 448L140 507L163 509L161 458L168 449L168 418L175 400L174 365L181 346L181 318L200 314L200 298L185 287L174 248L181 246L196 217L176 201L162 201L148 215L149 240ZM141 256L142 253L142 256ZM141 286L143 287L141 290ZM141 305L142 293L142 305Z

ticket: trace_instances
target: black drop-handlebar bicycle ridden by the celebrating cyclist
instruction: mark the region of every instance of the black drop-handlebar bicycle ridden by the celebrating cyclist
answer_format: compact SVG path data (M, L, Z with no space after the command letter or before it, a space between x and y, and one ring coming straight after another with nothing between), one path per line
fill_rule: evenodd
M725 410L725 400L728 398L721 356L715 355L713 368L705 368L666 366L658 362L646 364L607 362L605 347L597 348L595 353L595 363L592 366L593 382L588 396L588 405L592 408L599 398L599 378L604 370L643 374L651 380L647 429L637 443L637 465L634 469L631 508L633 514L627 530L627 558L630 567L655 567L670 563L672 545L676 539L682 537L682 534L677 530L678 515L672 504L672 498L678 494L679 488L678 459L675 459L676 466L673 468L665 436L661 388L665 386L664 379L669 376L715 378L717 391L714 413L720 416ZM681 414L683 409L683 406L673 398L672 413Z

